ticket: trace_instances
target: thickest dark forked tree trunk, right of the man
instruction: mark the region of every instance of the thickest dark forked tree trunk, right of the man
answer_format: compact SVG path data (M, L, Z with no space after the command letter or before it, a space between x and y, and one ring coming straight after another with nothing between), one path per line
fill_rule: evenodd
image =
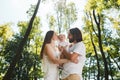
M95 23L96 23L97 29L98 29L98 44L99 44L99 49L100 49L100 52L102 54L104 67L105 67L104 68L104 70L105 70L105 80L108 80L108 66L107 66L107 61L106 61L105 54L104 54L103 47L102 47L101 29L100 29L100 16L98 14L98 18L96 18L95 10L93 10L93 17L94 17L94 20L95 20ZM97 19L98 19L98 21L97 21Z

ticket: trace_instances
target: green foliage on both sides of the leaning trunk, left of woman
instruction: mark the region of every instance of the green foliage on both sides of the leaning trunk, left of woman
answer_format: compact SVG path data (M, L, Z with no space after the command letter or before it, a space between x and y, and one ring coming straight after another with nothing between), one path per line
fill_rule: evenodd
M33 10L30 9L29 16L32 15ZM34 78L40 79L43 77L43 72L41 70L41 60L39 57L40 47L43 41L41 35L41 21L39 17L35 18L32 26L33 28L26 45L24 46L21 59L16 64L15 70L13 71L14 76L12 77L12 80L32 80ZM1 51L0 60L2 62L0 62L0 79L3 78L12 59L14 58L15 53L17 52L16 49L18 48L18 45L20 44L27 27L28 21L18 22L19 33L15 34L8 42L6 42L6 46ZM6 32L7 31L9 32L10 30L7 29Z

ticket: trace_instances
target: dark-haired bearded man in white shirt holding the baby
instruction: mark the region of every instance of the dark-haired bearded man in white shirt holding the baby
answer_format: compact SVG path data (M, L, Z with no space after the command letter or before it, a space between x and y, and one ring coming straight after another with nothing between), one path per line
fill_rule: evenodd
M63 64L62 80L82 80L86 49L82 42L81 31L78 28L70 29L68 39L72 46L69 47L68 51L63 49L63 55L71 61ZM77 63L75 63L76 60Z

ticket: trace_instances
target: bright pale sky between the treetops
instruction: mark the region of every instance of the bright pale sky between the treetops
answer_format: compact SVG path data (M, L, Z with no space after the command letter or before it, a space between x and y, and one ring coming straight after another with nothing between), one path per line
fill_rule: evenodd
M17 23L19 21L28 21L28 16L26 11L30 8L31 4L36 4L38 0L1 0L0 1L0 25L5 23L12 23L12 28L14 32L18 32ZM55 1L55 0L54 0ZM59 1L59 0L56 0ZM71 26L82 26L82 16L86 0L67 0L67 2L73 1L76 4L76 9L78 12L78 20ZM54 14L53 1L46 0L46 2L41 3L37 16L40 16L42 20L42 30L48 30L47 25L47 14ZM81 23L81 24L80 24ZM45 32L45 31L44 31Z

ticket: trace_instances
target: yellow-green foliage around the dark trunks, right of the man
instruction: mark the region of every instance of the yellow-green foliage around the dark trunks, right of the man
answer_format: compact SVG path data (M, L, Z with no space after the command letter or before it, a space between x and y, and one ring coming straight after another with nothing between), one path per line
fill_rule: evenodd
M95 76L98 76L98 68L95 68L97 65L97 59L95 56L95 52L93 49L93 45L91 43L91 35L93 42L96 46L97 54L98 54L98 61L100 66L100 79L104 79L104 64L102 61L102 56L100 54L100 49L98 45L98 23L100 19L100 30L101 30L101 39L102 39L102 47L104 50L104 54L108 63L108 73L109 79L111 80L118 80L120 76L118 76L120 66L120 46L119 44L119 33L120 33L120 18L119 18L119 0L88 0L85 6L85 13L84 21L85 27L84 29L84 42L86 44L87 49L87 60L86 66L84 68L84 79L97 79ZM95 11L94 18L93 10ZM112 12L112 13L111 13ZM116 13L115 13L116 12ZM99 16L98 16L99 15ZM92 60L94 63L91 63ZM90 65L92 64L92 65ZM97 71L95 71L97 69Z

